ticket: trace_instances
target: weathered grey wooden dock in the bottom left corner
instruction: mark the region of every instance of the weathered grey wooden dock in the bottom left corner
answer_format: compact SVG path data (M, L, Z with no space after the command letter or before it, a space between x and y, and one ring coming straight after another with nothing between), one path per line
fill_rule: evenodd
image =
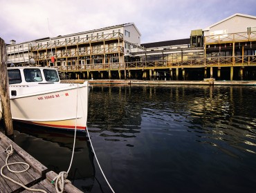
M48 168L42 165L39 161L30 156L27 152L25 152L22 148L20 148L16 143L10 140L5 134L0 132L0 166L6 164L6 148L9 145L12 145L14 150L13 154L9 156L8 163L14 162L26 162L30 165L30 168L26 172L22 173L12 173L9 172L6 167L3 168L3 174L14 179L15 181L21 183L22 185L26 185L26 187L30 187L33 189L41 189L46 192L56 192L55 185L51 183L51 181L57 176L57 174L53 171L48 172ZM26 169L26 165L23 164L15 164L10 165L10 169L15 171L21 171ZM16 183L10 181L9 179L0 176L0 192L34 192L26 190L24 187L17 185ZM71 183L65 183L64 192L82 192L78 190Z

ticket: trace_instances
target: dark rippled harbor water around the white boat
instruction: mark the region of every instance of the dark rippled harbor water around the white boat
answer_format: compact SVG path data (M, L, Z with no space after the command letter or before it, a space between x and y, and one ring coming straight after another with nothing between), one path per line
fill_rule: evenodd
M255 192L256 87L97 85L88 128L115 192ZM55 172L71 161L73 133L15 123L15 143ZM111 192L79 134L68 179Z

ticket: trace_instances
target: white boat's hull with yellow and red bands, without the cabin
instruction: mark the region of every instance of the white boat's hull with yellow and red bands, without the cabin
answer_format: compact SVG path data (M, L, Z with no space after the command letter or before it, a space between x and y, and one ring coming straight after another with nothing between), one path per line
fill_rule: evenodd
M11 90L17 92L17 96L10 97L13 120L64 130L86 130L88 83L60 83L54 89L51 85L44 85L35 88L12 87ZM19 92L23 94L18 95Z

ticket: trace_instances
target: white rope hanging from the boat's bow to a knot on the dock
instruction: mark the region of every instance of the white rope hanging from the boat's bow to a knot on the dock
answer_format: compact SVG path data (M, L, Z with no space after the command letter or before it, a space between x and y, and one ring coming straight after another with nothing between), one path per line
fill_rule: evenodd
M68 172L71 169L71 165L73 163L73 156L75 152L75 139L76 139L76 130L77 130L77 109L78 109L78 88L79 85L77 84L77 93L76 93L76 108L75 108L75 135L74 135L74 141L73 141L73 150L72 150L72 156L71 156L71 162L68 167L67 172L60 172L51 183L55 182L55 189L57 193L62 193L64 191L64 185L65 183L71 183L71 181L68 181L66 178L68 176Z

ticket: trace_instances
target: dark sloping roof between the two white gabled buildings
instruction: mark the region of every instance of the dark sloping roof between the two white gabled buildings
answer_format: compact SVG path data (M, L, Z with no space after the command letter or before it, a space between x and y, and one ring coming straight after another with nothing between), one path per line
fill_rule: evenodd
M145 48L156 48L156 47L164 47L169 45L183 45L190 44L190 39L175 39L170 41L158 41L152 43L142 43L141 46Z

